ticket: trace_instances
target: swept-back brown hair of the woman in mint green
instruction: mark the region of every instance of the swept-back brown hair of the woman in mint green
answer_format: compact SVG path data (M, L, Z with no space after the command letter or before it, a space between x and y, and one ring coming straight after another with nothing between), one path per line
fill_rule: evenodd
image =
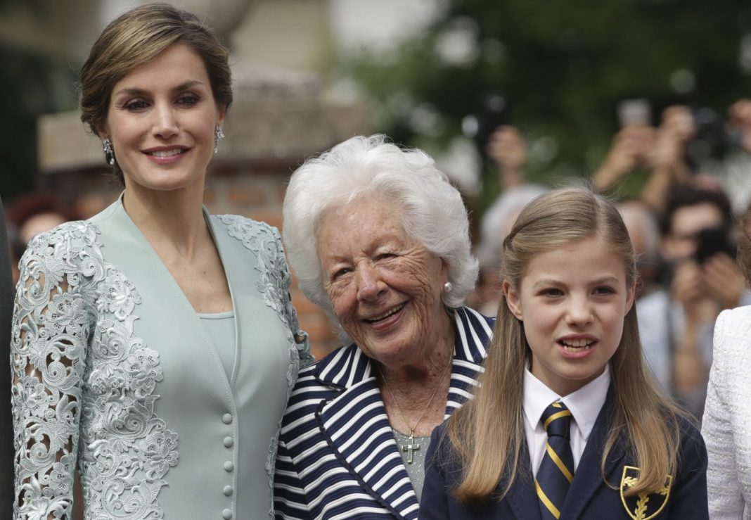
M98 128L107 119L115 84L134 68L177 43L191 47L201 56L214 101L223 110L229 108L232 103L229 53L213 30L195 14L172 5L141 5L104 28L81 68L81 120L89 124L95 135L99 135ZM122 170L117 163L114 173L122 182Z

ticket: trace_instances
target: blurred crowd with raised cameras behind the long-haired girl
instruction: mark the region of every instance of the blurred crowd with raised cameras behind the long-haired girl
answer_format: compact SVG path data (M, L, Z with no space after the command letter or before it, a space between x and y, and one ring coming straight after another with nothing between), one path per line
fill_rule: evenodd
M630 100L637 107L643 100ZM637 112L639 114L637 114ZM702 170L691 148L699 131L686 106L667 107L650 125L643 107L624 117L611 149L587 183L617 200L641 277L637 311L641 341L656 378L701 419L712 363L713 325L720 311L751 304L737 248L751 233L751 156L735 188L737 154L751 154L751 101L728 108L724 123L731 165ZM639 116L637 116L639 115ZM502 195L479 222L481 280L471 304L494 315L500 295L499 250L521 208L549 189L524 175L526 144L520 128L499 127L487 143L497 166ZM638 168L648 172L641 192L624 196L620 183ZM744 191L743 183L746 184Z

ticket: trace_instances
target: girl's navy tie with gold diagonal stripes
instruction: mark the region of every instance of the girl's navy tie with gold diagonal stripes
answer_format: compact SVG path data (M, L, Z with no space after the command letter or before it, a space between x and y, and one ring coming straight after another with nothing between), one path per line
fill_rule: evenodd
M547 431L545 454L537 470L535 488L540 499L543 520L559 518L563 500L574 479L574 455L571 452L571 412L556 401L542 413L542 425Z

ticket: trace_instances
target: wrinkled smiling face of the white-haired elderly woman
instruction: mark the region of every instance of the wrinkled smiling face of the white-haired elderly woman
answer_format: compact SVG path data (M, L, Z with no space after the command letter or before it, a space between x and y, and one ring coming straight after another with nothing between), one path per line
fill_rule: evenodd
M448 265L406 234L390 204L360 199L325 213L318 258L336 318L370 358L396 369L453 343L441 301Z

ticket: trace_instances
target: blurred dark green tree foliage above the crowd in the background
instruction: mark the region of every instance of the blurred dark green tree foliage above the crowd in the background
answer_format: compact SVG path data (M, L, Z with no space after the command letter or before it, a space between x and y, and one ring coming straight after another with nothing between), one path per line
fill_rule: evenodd
M617 131L616 105L648 98L653 119L675 102L712 107L749 95L739 65L740 40L751 32L751 7L740 0L447 0L424 34L391 56L338 56L333 73L353 75L373 103L374 129L397 142L445 147L484 92L509 101L509 122L526 136L551 138L550 160L529 162L531 180L588 177ZM468 59L446 62L447 35L470 38ZM450 41L450 40L449 40ZM449 46L451 47L451 46ZM695 87L678 94L676 71ZM415 125L429 107L434 123ZM485 173L486 193L492 181ZM638 176L637 176L638 177ZM642 176L643 177L643 176ZM638 179L627 190L639 189ZM488 193L488 191L492 193ZM479 207L484 202L479 201Z

